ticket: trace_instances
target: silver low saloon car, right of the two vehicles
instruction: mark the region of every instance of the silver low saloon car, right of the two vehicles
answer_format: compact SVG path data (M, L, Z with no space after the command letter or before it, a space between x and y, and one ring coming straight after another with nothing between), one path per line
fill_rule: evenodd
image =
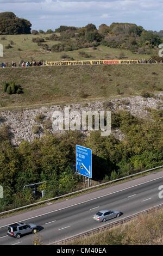
M93 216L95 221L98 222L105 222L110 220L111 218L120 217L120 211L110 211L110 210L101 210L98 211L97 214Z

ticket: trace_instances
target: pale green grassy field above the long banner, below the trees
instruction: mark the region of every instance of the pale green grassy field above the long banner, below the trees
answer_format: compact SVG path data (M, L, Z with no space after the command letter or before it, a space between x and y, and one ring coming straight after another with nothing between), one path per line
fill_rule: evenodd
M30 60L52 60L52 61L59 61L62 60L62 55L65 52L48 52L46 50L43 50L41 46L38 46L35 42L32 42L32 38L46 38L50 34L41 34L41 35L5 35L0 36L0 44L4 46L4 57L1 58L5 62L12 62L12 61L30 61ZM2 38L5 37L5 40L2 40ZM10 44L10 41L13 41L14 44L12 44L12 48L6 49L5 46ZM58 44L59 41L50 41L45 40L43 44L47 44L50 47L52 45ZM18 50L20 49L20 50ZM80 51L84 51L88 54L90 54L92 57L90 58L84 58L79 55ZM66 54L74 58L75 60L84 60L84 59L117 59L120 56L120 53L124 53L125 58L149 58L150 56L147 54L134 54L131 53L129 50L122 50L118 48L110 48L106 46L98 46L97 50L93 50L93 48L83 48L76 51L66 52ZM0 59L0 62L1 62Z

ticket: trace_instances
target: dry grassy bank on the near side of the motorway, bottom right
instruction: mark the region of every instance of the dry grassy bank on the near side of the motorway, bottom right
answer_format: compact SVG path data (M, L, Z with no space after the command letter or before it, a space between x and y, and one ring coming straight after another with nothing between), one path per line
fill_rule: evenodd
M162 224L161 209L152 214L141 215L127 224L80 237L66 245L162 245Z

